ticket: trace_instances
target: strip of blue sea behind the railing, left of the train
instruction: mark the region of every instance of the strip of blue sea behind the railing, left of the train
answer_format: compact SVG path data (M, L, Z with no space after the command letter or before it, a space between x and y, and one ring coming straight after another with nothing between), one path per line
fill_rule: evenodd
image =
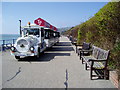
M19 34L0 34L0 45L3 44L3 40L5 40L5 44L12 43L13 39L17 39Z

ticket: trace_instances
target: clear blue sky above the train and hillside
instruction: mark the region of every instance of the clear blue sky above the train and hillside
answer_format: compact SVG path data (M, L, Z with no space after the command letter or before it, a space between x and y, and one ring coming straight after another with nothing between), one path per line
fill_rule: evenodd
M2 34L19 34L19 20L25 26L39 17L57 28L73 27L94 16L107 3L2 2Z

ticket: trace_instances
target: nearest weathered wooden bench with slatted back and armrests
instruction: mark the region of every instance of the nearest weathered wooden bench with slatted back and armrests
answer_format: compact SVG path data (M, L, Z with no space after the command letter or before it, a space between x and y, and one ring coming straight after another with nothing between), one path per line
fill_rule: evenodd
M82 56L82 61L85 62L85 68L90 68L90 78L92 80L93 76L104 77L107 78L107 63L109 57L109 50L103 50L96 46L92 47L92 54L90 56ZM93 75L94 71L103 71L103 74Z

